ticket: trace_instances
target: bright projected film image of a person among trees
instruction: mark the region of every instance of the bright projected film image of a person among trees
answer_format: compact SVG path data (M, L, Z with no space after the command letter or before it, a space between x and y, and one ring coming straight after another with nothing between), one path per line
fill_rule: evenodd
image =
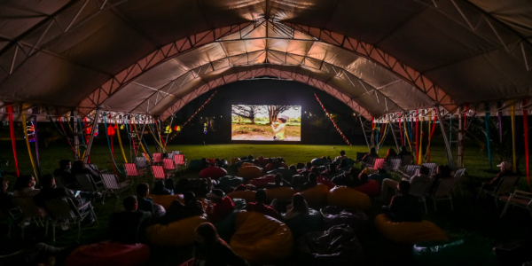
M301 106L231 106L231 140L301 141Z

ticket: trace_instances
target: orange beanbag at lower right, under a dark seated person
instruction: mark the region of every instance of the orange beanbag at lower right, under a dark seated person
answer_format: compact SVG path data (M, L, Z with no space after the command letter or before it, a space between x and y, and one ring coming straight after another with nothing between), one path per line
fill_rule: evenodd
M442 229L428 221L394 223L383 214L375 217L375 227L382 236L397 243L414 244L419 241L447 240Z

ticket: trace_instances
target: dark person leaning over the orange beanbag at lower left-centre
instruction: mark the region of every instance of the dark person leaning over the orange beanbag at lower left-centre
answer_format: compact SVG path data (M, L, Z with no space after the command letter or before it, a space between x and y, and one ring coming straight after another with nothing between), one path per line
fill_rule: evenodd
M203 215L203 207L201 202L196 199L196 195L193 192L184 192L183 193L184 204L179 200L174 200L166 214L161 218L163 224L174 223L176 221L182 220L184 218Z

